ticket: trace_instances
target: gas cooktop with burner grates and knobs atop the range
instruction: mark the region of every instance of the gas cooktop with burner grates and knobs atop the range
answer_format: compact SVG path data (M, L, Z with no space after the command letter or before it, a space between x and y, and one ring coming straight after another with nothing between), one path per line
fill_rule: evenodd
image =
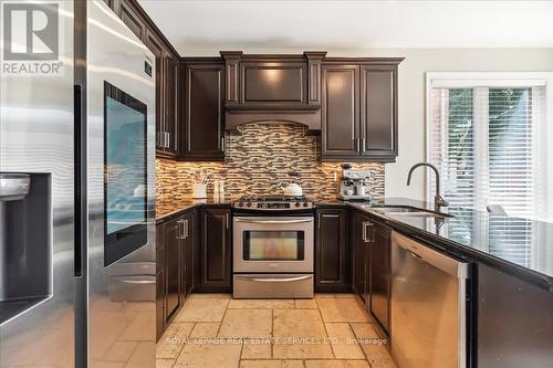
M313 209L314 203L305 196L244 196L232 203L241 210L298 211Z

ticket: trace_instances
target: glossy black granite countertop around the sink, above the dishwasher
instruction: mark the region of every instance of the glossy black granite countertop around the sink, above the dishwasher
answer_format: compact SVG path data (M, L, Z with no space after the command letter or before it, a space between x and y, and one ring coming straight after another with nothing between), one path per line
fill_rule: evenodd
M553 292L553 223L461 208L445 208L442 212L451 217L444 219L378 212L378 207L386 206L434 211L434 203L405 198L348 202L347 206L374 214L408 234L439 243L447 252L515 272Z

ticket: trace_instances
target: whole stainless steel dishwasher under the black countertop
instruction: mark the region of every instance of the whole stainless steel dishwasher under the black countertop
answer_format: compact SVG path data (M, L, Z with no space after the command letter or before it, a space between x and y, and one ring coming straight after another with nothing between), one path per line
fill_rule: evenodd
M392 355L399 368L466 368L469 264L392 232Z

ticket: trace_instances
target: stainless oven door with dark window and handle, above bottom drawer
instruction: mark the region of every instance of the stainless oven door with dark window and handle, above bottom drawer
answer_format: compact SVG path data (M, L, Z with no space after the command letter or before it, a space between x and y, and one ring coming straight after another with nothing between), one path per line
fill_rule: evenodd
M313 217L234 217L234 272L313 272Z

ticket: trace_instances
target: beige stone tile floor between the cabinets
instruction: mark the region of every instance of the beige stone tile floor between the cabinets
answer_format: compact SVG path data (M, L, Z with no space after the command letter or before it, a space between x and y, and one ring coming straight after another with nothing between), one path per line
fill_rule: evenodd
M352 294L314 299L191 295L157 344L157 368L397 368Z

